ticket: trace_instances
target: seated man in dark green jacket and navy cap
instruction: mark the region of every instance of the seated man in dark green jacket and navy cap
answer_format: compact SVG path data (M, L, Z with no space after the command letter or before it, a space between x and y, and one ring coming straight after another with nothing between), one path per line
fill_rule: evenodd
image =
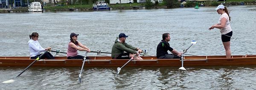
M125 40L128 36L125 35L125 33L120 33L119 37L116 38L115 44L112 47L111 57L113 59L129 59L133 58L136 54L137 57L133 58L135 60L143 60L140 57L140 48L136 48L134 46L131 46L127 43L125 43ZM126 53L125 53L125 52Z

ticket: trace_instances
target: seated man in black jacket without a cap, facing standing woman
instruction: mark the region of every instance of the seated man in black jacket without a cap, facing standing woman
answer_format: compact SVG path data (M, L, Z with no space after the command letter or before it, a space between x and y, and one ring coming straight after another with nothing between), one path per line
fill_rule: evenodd
M177 52L177 50L170 47L168 41L170 41L170 34L163 33L163 40L157 45L157 58L158 59L180 59L182 52ZM167 51L172 52L168 54Z

